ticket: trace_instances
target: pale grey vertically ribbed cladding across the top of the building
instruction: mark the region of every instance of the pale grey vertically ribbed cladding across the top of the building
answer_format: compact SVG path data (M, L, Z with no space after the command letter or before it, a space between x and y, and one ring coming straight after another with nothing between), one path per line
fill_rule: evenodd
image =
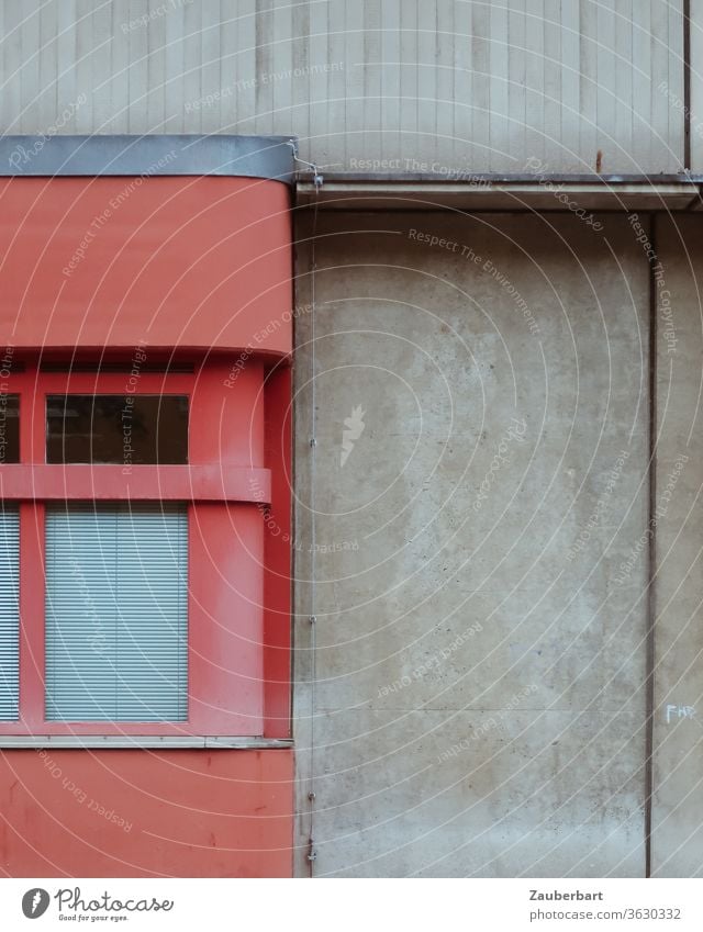
M0 128L295 134L352 171L591 171L599 149L604 172L678 171L682 7L4 0Z

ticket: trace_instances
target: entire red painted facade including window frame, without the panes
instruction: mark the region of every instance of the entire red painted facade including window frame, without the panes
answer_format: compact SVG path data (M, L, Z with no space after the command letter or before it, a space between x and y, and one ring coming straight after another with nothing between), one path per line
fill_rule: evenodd
M288 738L288 189L226 177L12 178L0 196L0 343L12 358L2 391L21 398L22 460L0 465L21 541L20 720L0 723L0 743ZM47 464L46 395L124 392L114 370L129 371L135 347L146 361L130 391L189 396L189 465ZM154 371L174 359L189 371ZM113 371L85 371L104 361ZM187 722L45 721L44 502L93 498L188 503ZM0 824L10 876L286 876L292 752L3 750Z

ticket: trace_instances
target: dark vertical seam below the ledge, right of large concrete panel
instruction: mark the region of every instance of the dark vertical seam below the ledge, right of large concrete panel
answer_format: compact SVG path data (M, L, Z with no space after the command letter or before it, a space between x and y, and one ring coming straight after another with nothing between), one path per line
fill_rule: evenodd
M649 215L649 242L654 258L649 265L649 507L647 524L649 548L647 555L647 647L645 680L645 876L651 877L651 797L654 794L654 708L655 708L655 574L657 571L657 527L652 524L657 507L657 215Z

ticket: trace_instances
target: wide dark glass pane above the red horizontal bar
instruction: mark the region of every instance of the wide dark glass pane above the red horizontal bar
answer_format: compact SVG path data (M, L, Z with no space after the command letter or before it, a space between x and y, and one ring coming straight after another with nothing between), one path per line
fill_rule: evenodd
M48 395L47 463L188 462L187 395Z

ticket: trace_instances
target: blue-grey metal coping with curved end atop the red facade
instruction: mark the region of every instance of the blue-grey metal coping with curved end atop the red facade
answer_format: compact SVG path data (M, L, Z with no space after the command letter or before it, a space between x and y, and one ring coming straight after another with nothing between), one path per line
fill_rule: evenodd
M216 175L292 184L290 136L1 136L0 177Z

